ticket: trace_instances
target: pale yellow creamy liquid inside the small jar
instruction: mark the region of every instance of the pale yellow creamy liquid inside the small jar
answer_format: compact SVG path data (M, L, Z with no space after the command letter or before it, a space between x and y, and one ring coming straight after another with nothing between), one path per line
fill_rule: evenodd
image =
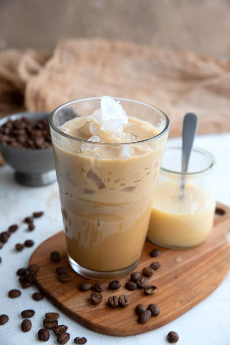
M161 185L154 197L148 238L168 247L196 246L208 237L214 210L213 196L201 187L186 185L180 200L178 185Z

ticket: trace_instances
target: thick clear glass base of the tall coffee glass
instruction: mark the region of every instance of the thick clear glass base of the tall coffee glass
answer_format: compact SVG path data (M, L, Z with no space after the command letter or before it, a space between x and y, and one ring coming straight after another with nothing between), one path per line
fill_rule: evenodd
M68 260L70 263L70 266L72 269L80 274L83 277L90 278L90 279L100 279L100 280L111 280L116 278L121 278L124 276L127 276L133 270L137 267L139 264L140 259L138 259L134 264L132 264L129 267L120 269L118 271L112 271L112 272L100 272L100 271L94 271L85 267L80 266L76 261L74 261L71 256L68 254Z

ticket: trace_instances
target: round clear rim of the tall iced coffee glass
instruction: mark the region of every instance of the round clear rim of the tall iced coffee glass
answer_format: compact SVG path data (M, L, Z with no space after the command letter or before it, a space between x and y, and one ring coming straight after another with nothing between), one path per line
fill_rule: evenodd
M106 142L94 142L94 141L88 141L88 140L84 140L84 139L80 139L80 138L76 138L76 137L72 137L71 135L69 134L66 134L64 132L62 132L56 125L54 125L54 122L53 122L53 117L54 115L56 115L61 109L63 109L64 107L66 106L70 106L70 105L73 105L74 103L78 103L78 102L81 102L81 101L90 101L90 100L100 100L101 96L100 97L88 97L88 98L79 98L79 99L76 99L76 100L73 100L73 101L70 101L70 102L67 102L67 103L64 103L62 105L60 105L59 107L57 107L56 109L54 109L50 115L49 115L49 125L50 127L56 131L58 134L60 134L61 136L63 137L66 137L67 139L71 139L71 140L76 140L76 141L80 141L80 142L84 142L84 143L90 143L90 145L109 145L109 146L120 146L120 145L136 145L136 144L140 144L140 143L143 143L143 142L148 142L148 141L151 141L151 140L154 140L154 139L157 139L159 137L161 137L163 134L167 133L169 131L169 128L170 128L170 120L168 118L168 116L162 111L160 110L159 108L157 107L154 107L152 105L150 105L149 103L144 103L144 102L141 102L141 101L136 101L134 99L129 99L129 98L122 98L122 97L112 97L113 99L115 100L119 100L119 101L129 101L129 102L133 102L133 103L138 103L138 104L141 104L141 105L144 105L144 106L147 106L153 110L156 110L161 116L164 117L164 120L166 121L166 124L164 126L164 129L159 132L157 135L155 135L154 137L151 137L151 138L147 138L147 139L144 139L144 140L140 140L140 141L133 141L133 142L120 142L120 143L117 143L117 142L114 142L114 143L106 143Z

